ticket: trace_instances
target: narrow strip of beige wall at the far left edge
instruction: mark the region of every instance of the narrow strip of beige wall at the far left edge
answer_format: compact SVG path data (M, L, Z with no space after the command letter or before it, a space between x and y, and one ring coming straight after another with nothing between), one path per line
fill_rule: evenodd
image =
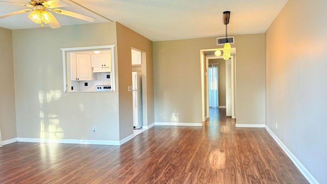
M2 140L16 135L14 65L11 30L0 28L0 129ZM0 139L1 140L1 139Z

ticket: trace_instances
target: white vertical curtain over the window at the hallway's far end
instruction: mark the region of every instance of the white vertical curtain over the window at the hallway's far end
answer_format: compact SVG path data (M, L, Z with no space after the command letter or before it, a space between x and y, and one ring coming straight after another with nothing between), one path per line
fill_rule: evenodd
M209 82L209 107L218 107L218 64L209 64L208 82Z

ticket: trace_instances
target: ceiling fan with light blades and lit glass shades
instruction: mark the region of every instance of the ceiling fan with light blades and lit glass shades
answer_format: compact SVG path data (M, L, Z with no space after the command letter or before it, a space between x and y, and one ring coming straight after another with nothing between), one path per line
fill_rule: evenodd
M26 7L30 7L33 9L25 9L25 10L19 10L19 11L15 11L15 12L11 12L5 15L1 15L0 18L5 18L11 15L16 15L16 14L20 14L20 13L26 13L26 12L31 12L29 14L29 18L34 21L37 24L41 24L41 27L43 27L43 23L44 24L49 24L49 26L51 28L60 28L60 24L58 22L58 20L56 19L56 17L50 12L55 12L58 14L62 14L62 15L67 15L67 16L71 16L71 17L75 17L75 18L79 18L82 20L86 20L89 22L94 22L95 18L94 17L90 17L90 16L86 16L86 15L82 15L79 13L75 13L75 12L71 12L71 11L67 11L67 10L61 10L61 9L57 9L58 7L64 7L67 6L68 4L60 1L60 0L29 0L29 5L28 4L21 4L21 3L12 3L12 2L4 2L4 1L0 1L2 3L11 3L11 4L16 4L16 5L22 5L22 6L26 6ZM46 11L49 10L49 11Z

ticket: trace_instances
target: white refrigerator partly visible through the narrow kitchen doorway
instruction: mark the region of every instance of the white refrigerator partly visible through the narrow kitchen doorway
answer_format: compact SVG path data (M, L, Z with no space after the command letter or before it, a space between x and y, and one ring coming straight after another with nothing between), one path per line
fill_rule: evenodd
M133 92L133 127L134 129L143 126L142 111L142 74L132 72L132 92Z

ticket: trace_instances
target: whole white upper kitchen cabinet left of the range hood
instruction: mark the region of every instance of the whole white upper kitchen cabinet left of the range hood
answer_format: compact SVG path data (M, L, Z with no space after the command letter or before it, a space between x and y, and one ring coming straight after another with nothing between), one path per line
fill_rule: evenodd
M87 54L72 54L72 81L94 80L91 56Z

